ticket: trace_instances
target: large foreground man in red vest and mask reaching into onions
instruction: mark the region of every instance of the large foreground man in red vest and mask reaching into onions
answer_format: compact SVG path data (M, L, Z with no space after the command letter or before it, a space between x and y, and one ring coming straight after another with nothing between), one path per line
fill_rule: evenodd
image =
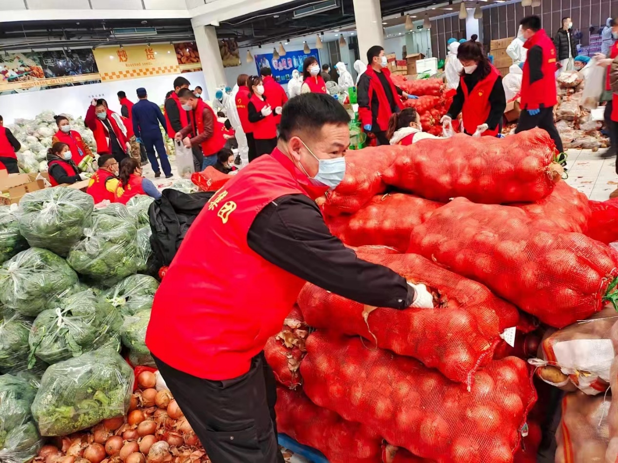
M327 94L290 99L277 148L208 201L155 295L146 345L213 463L283 463L263 349L305 282L373 307L433 307L424 285L358 259L324 223L315 199L344 177L349 121Z

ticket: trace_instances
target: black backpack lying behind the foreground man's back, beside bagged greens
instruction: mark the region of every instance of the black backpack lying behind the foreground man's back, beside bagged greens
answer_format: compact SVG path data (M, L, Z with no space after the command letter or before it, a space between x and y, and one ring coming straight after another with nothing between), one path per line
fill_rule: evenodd
M150 246L159 267L171 264L193 220L214 193L200 191L187 194L166 188L161 192L161 198L150 205L148 215L153 231Z

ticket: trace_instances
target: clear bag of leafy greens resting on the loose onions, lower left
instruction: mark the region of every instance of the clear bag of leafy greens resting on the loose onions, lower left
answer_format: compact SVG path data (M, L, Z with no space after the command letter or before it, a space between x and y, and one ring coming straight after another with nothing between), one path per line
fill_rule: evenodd
M32 404L41 435L64 436L124 415L134 379L132 368L111 348L51 365Z

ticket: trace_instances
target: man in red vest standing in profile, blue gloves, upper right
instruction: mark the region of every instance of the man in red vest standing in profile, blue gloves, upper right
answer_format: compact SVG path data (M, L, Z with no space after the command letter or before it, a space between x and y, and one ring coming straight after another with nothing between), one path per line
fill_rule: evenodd
M528 56L523 64L522 114L519 115L515 133L542 128L554 140L558 152L562 152L562 140L554 122L554 106L557 104L556 48L541 29L540 17L525 17L520 25L526 39L523 48L528 50Z

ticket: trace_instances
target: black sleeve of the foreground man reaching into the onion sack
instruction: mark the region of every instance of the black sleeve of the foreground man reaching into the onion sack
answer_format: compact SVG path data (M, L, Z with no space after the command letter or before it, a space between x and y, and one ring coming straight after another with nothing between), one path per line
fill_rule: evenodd
M405 309L415 293L404 277L358 259L332 236L320 209L303 194L281 196L253 220L249 247L271 264L344 298Z

